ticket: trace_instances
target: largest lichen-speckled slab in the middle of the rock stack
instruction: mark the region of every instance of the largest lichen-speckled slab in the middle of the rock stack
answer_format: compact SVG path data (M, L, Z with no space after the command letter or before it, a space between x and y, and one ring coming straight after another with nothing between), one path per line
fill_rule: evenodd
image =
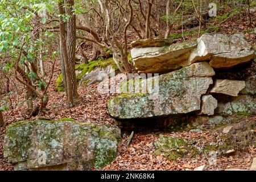
M210 77L213 75L214 71L208 63L197 63L179 71L148 78L147 85L158 83L151 92L114 97L108 102L109 113L114 118L130 119L198 111L201 95L213 83Z

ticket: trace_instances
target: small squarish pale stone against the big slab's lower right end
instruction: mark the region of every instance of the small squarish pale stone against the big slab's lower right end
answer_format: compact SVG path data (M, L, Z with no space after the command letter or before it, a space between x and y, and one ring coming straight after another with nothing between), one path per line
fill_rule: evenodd
M203 96L201 105L202 107L200 114L213 115L214 109L217 108L218 102L212 96Z

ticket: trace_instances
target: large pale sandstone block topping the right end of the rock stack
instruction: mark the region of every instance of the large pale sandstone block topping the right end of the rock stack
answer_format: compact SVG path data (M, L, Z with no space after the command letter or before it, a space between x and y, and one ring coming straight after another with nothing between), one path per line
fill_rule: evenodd
M253 47L242 34L204 34L198 40L189 62L210 60L213 68L230 68L246 63L255 57Z

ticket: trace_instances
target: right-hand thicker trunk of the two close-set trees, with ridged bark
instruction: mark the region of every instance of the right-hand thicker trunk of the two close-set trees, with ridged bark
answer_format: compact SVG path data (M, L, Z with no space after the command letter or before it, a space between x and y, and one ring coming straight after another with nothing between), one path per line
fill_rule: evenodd
M73 14L73 6L75 5L74 0L65 0L65 12L70 15L67 21L67 52L68 52L68 63L71 76L72 84L72 95L73 98L78 99L79 94L77 92L76 83L76 15Z

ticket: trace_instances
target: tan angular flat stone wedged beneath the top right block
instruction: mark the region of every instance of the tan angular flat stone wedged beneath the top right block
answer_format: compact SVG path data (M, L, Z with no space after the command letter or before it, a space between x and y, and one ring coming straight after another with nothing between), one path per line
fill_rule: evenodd
M216 80L210 93L222 93L229 96L238 96L238 93L245 88L245 81L237 80Z

